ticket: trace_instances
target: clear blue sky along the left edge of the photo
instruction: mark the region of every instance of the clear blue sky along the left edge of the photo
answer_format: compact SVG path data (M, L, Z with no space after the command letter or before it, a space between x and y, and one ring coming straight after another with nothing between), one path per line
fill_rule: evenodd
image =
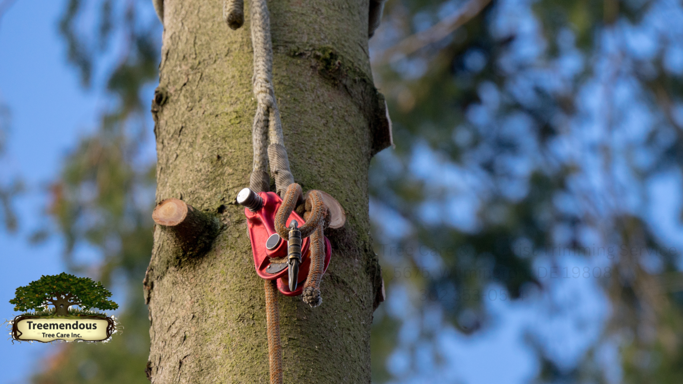
M8 150L0 160L0 180L20 175L27 192L16 200L20 230L0 231L0 318L15 313L8 300L14 289L40 275L61 273L62 243L54 236L40 246L27 243L32 230L46 225L42 209L46 186L59 172L64 155L96 122L96 93L79 87L66 66L64 41L57 35L63 1L21 0L0 25L0 98L12 111ZM40 357L57 346L0 342L0 383L23 383Z

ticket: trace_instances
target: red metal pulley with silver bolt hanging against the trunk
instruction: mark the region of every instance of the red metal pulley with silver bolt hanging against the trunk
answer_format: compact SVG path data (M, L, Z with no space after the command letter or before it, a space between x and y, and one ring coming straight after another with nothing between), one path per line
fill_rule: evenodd
M245 206L247 229L251 241L251 251L254 256L256 273L266 280L277 279L277 289L285 296L298 296L303 290L303 284L308 277L311 265L310 238L303 238L301 243L301 264L298 267L297 288L291 291L288 284L288 242L280 238L275 231L275 214L282 205L282 199L274 192L255 193L249 188L242 189L237 196L237 202ZM289 228L292 220L303 225L304 220L296 212L292 212L286 221ZM330 264L332 246L325 237L324 271Z

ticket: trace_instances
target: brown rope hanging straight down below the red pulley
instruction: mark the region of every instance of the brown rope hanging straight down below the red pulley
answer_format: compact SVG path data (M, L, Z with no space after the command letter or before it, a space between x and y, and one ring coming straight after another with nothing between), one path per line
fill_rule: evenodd
M280 308L277 305L277 282L264 280L266 288L266 329L270 384L282 384L282 346L280 344Z

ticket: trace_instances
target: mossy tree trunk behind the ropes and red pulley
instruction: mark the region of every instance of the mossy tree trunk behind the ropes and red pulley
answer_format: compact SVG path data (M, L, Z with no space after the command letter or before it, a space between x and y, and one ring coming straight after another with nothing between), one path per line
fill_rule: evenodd
M268 4L275 95L292 174L331 194L346 225L326 230L332 260L322 305L279 295L285 383L370 383L370 325L382 299L368 221L367 168L388 145L385 103L367 53L368 2ZM187 256L156 228L145 276L152 383L268 383L264 283L254 271L244 208L256 102L249 3L229 29L217 0L165 0L160 84L152 102L156 202L171 197L223 229Z

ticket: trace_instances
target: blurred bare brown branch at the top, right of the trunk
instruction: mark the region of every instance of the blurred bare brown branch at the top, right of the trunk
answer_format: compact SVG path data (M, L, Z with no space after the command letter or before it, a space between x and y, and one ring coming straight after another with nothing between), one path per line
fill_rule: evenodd
M458 12L439 21L430 29L410 35L407 38L404 38L400 43L391 46L389 49L380 53L372 60L372 65L381 66L387 64L391 58L397 54L408 56L411 53L415 53L415 51L421 49L423 46L438 42L448 36L452 31L455 31L464 25L464 23L467 23L474 16L477 16L490 1L491 0L469 0L458 10Z

